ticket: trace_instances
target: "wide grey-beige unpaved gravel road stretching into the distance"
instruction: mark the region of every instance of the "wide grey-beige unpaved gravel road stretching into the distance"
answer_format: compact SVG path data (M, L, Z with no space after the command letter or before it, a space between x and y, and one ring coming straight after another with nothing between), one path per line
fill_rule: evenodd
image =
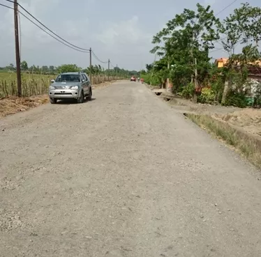
M0 120L0 256L261 256L260 172L142 84Z

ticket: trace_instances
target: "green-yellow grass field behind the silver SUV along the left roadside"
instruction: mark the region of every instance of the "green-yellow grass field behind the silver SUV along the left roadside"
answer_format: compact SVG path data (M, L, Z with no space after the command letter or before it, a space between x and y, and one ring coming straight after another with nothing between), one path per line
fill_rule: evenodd
M40 75L22 73L22 96L44 95L50 86L50 80L55 75ZM121 79L120 77L107 77L96 75L92 77L92 84ZM16 73L0 72L0 98L17 95Z

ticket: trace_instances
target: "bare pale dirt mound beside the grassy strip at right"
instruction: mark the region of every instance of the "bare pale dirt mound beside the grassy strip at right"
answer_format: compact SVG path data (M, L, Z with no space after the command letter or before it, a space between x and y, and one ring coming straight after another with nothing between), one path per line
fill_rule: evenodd
M242 109L225 115L214 115L230 125L240 127L248 133L261 136L261 109Z

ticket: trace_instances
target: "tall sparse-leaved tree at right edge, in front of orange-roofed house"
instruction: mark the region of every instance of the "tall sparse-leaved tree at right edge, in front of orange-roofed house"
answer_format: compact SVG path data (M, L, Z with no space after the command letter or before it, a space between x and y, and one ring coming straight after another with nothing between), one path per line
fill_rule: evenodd
M227 96L232 90L233 81L237 81L237 86L242 88L247 79L248 63L260 59L258 45L261 40L261 8L242 3L240 8L236 8L225 18L219 31L225 35L221 42L230 57L223 73L226 78L221 103L225 104ZM234 48L239 44L245 45L242 53L234 54ZM237 69L239 63L240 68Z

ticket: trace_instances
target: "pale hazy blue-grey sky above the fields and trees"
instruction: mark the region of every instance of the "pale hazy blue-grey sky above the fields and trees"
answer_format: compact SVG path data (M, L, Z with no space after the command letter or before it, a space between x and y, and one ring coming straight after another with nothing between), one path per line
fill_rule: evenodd
M210 4L214 12L228 6L232 0L18 0L34 16L59 36L79 47L92 47L102 61L110 59L113 65L129 70L140 70L151 63L154 56L151 38L163 29L166 22L181 13L184 8L195 9L197 2ZM237 1L224 10L224 18L244 1ZM0 3L12 6L5 0ZM252 6L260 6L260 0L249 0ZM75 52L21 17L21 56L29 65L61 65L75 63L89 65L88 54ZM0 66L15 63L13 10L0 6ZM220 48L221 45L216 45ZM222 51L214 58L227 56ZM98 64L93 59L94 64ZM101 63L100 63L101 64Z

